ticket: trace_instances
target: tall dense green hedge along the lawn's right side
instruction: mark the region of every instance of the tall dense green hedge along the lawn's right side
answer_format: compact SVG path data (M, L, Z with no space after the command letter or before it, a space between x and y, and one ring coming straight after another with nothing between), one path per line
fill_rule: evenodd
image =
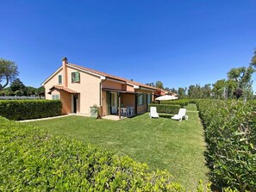
M256 191L256 102L197 102L208 143L210 179L216 189Z

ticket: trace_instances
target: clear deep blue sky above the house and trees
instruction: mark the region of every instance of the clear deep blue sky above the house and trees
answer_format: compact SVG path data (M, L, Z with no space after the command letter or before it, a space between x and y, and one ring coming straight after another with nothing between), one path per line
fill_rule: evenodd
M2 0L0 7L0 58L16 61L22 82L34 87L64 56L143 84L203 86L247 66L256 47L255 0Z

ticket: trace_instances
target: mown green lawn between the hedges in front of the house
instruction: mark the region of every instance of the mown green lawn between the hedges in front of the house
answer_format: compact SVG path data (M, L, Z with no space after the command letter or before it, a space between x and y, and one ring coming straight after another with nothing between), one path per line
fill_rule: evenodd
M203 127L196 105L190 104L187 109L189 120L181 122L170 117L150 119L147 113L122 121L74 115L27 124L128 155L147 163L151 170L169 170L179 183L192 189L199 179L207 180L208 170L203 157Z

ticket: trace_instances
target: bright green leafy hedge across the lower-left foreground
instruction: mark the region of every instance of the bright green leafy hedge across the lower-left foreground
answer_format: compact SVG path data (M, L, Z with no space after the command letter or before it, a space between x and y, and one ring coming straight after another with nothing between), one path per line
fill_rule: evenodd
M0 191L185 191L167 171L2 117L0 148Z

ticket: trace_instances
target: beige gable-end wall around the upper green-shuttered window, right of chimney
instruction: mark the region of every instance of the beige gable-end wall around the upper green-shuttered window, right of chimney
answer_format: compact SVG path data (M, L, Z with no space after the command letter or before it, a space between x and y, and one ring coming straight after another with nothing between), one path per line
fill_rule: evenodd
M78 71L67 67L67 87L80 92L78 96L78 113L90 115L90 107L94 104L100 105L100 77L80 71L80 82L72 83L72 72Z

